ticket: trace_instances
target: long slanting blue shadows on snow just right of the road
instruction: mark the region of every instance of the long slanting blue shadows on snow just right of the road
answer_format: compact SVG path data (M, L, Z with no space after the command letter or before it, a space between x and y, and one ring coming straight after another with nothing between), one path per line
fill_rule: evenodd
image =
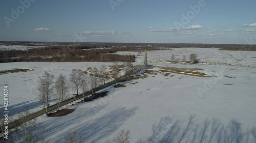
M50 142L65 142L68 133L75 133L74 138L80 138L82 142L100 142L101 139L109 137L113 132L119 129L119 127L130 117L132 117L138 107L126 109L124 107L115 109L99 118L93 120L87 119L98 113L104 106L96 106L88 109L75 110L79 111L79 114L74 112L65 116L65 118L57 117L53 122L52 120L40 123L40 126L44 128L40 135L49 137L54 133L54 136L49 138ZM69 132L67 132L69 130ZM56 136L58 136L56 138ZM102 141L102 140L101 140Z

